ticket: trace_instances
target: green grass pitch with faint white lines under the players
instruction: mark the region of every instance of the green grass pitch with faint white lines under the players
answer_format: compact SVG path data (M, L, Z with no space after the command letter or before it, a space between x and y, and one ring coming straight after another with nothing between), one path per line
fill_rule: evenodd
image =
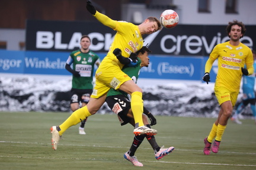
M116 115L94 115L85 124L87 135L72 126L53 151L50 127L60 125L69 113L0 112L0 169L256 169L256 125L229 122L219 153L203 154L203 139L215 119L156 116L156 142L170 155L157 161L145 139L137 149L143 167L123 158L133 141L133 127L120 126Z

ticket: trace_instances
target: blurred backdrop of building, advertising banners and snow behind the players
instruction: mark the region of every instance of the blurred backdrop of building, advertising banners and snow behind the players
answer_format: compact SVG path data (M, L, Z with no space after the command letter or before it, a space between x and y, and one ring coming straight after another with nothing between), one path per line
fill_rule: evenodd
M216 64L209 85L202 83L201 77L213 47L229 40L225 30L229 21L244 22L247 32L241 41L256 49L255 0L91 2L111 19L134 24L149 16L159 18L166 9L178 13L177 27L145 36L145 44L152 50L151 64L141 70L138 84L143 88L145 105L158 115L216 115ZM102 59L115 34L92 17L86 3L1 0L0 110L69 111L72 75L65 70L69 54L87 34L92 39L91 50ZM104 106L100 112L111 111Z

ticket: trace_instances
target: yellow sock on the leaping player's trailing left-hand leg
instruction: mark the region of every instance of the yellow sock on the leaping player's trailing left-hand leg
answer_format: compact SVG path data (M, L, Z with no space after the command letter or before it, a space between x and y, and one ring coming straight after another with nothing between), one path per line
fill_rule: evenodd
M73 126L73 125L77 125L78 123L80 123L82 120L84 120L86 117L91 116L91 113L89 113L87 106L84 106L78 110L76 110L75 112L72 113L71 116L68 117L68 119L65 120L65 122L63 122L59 127L60 127L60 131L59 131L59 135L61 136L66 129L68 129L69 127Z

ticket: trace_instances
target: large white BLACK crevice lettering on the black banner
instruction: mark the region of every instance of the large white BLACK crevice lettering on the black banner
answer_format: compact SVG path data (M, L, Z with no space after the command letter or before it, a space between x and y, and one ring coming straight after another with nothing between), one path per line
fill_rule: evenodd
M61 28L60 28L61 30ZM64 31L62 31L64 32ZM73 32L72 37L69 38L68 43L63 43L62 39L65 35L61 31L37 31L36 32L36 49L52 49L52 50L74 50L74 48L80 47L80 38L82 37L82 32ZM220 44L222 42L226 42L229 40L229 37L222 37L221 32L216 32L216 35L213 37L206 37L204 35L186 35L186 34L178 34L178 35L169 35L164 34L159 37L159 32L157 31L151 35L148 35L145 38L144 44L152 44L156 38L159 38L159 47L157 51L154 53L158 54L199 54L202 51L206 51L207 54L210 54L215 47L216 44ZM90 49L92 51L108 51L111 45L111 42L114 40L114 35L108 32L91 32L88 34L91 38L91 41L97 42L95 44L91 44ZM137 36L137 35L136 35ZM140 41L143 41L142 38ZM248 47L253 46L253 41L251 37L244 36L241 40ZM245 41L245 42L244 42ZM34 42L33 42L34 43ZM130 44L129 44L130 45ZM132 47L133 46L133 47ZM133 50L135 44L131 47ZM227 48L232 49L229 45L226 45ZM140 48L140 47L139 47ZM238 47L239 48L239 47ZM31 49L29 49L31 50ZM34 50L34 49L33 49ZM134 51L135 52L135 51Z

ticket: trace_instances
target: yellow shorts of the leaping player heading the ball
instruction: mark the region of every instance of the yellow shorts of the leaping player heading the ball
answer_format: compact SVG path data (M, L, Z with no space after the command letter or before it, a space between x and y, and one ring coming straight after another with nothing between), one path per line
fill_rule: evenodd
M119 89L121 84L132 80L120 67L113 63L101 63L95 73L95 87L91 97L98 99L107 94L110 88Z

